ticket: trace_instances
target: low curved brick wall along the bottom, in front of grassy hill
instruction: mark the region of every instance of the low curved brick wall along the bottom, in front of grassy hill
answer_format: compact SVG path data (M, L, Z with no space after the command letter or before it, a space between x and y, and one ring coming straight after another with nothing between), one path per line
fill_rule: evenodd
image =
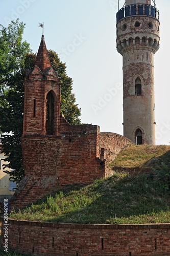
M2 232L4 232L2 225ZM84 225L9 220L9 246L51 256L170 255L170 224Z

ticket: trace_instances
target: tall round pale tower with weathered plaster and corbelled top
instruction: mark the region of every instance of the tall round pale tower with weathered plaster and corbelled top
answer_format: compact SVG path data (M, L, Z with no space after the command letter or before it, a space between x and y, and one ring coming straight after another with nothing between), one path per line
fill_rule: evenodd
M159 11L152 0L126 0L117 18L117 51L123 56L124 136L155 144L154 54Z

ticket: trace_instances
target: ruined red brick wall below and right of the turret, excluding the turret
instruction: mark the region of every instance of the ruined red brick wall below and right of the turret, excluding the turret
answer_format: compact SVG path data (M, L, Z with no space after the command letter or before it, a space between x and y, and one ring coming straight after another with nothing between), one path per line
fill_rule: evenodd
M60 136L22 137L25 178L11 199L21 208L72 184L87 184L112 175L109 162L132 142L118 134L100 133L91 124L70 125L61 116Z

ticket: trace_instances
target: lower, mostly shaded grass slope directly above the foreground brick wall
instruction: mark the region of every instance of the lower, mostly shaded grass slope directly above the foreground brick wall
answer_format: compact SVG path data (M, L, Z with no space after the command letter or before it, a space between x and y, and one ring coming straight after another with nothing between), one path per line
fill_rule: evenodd
M116 172L78 190L60 191L11 218L65 223L169 223L170 192L153 176Z

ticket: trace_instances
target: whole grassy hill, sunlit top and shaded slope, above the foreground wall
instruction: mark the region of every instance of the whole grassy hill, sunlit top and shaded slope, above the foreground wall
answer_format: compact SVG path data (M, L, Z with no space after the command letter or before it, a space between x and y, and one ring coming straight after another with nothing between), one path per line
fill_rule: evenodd
M67 187L10 217L66 223L170 222L170 146L128 147L111 166L112 177Z

